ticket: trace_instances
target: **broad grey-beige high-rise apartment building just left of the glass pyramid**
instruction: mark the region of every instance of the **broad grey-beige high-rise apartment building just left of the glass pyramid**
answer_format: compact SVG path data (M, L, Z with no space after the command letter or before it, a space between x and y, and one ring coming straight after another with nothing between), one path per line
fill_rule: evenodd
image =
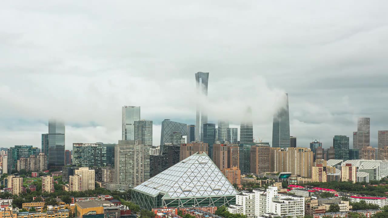
M116 184L133 188L149 179L149 145L119 140L114 149Z

